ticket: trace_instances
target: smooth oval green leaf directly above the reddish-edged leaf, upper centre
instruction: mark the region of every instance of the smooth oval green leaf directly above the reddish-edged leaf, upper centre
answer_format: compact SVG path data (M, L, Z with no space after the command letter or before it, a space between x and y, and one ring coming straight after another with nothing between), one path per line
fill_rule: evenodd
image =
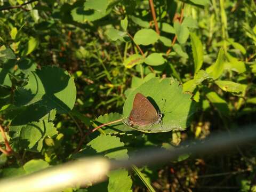
M134 42L138 45L150 45L157 42L159 35L153 29L141 29L134 35Z

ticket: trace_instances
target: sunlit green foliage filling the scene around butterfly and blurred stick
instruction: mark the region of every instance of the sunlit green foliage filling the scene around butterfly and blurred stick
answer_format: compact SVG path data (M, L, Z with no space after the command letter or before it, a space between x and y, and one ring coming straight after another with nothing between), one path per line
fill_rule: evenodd
M255 127L253 0L0 5L2 178L82 156L129 158L141 148L168 150L212 132ZM138 92L162 113L162 125L122 123ZM254 149L187 154L65 191L256 191Z

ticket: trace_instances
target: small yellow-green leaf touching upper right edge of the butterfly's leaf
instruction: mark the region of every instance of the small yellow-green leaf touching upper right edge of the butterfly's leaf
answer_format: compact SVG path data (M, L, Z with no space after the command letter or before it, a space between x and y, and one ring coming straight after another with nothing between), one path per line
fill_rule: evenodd
M199 70L195 74L193 79L183 84L183 92L185 91L193 92L196 89L196 86L201 84L207 78L210 78L209 74L207 74L205 70Z

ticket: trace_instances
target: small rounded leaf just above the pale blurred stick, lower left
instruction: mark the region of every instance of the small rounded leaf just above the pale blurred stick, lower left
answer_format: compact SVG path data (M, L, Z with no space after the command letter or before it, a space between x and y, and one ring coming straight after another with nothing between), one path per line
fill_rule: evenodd
M49 167L49 164L43 159L32 159L29 162L25 163L25 165L23 165L23 169L26 171L27 174L43 170L47 167Z

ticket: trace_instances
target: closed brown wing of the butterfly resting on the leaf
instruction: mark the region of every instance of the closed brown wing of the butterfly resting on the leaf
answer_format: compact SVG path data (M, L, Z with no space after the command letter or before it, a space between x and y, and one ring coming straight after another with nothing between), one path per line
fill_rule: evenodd
M129 122L133 126L146 126L158 122L158 114L155 107L141 93L135 95Z

